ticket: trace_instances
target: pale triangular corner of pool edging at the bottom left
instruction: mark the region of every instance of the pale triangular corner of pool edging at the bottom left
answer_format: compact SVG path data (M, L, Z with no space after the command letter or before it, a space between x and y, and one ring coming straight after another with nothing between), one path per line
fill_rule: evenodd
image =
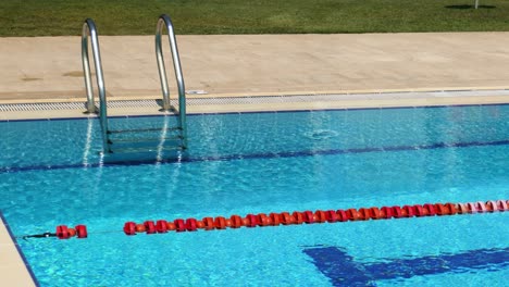
M39 286L1 211L0 222L0 283L4 286Z

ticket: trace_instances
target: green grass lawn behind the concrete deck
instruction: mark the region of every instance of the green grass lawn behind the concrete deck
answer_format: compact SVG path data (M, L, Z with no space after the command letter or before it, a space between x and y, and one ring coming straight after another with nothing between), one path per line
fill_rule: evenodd
M3 0L0 36L151 35L160 14L177 34L509 30L509 1L480 0Z

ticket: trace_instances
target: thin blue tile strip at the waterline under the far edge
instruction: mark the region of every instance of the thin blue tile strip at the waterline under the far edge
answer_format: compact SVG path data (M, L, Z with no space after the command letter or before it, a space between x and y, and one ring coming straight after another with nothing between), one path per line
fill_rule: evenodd
M491 107L491 105L509 105L509 103L465 103L465 104L438 104L438 105L414 105L414 107L359 107L359 108L335 108L335 109L303 109L303 110L271 110L271 111L238 111L238 112L201 112L188 113L187 116L202 115L219 115L219 114L264 114L264 113L301 113L301 112L334 112L334 111L372 111L372 110L405 110L405 109L447 109L447 108L465 108L465 107ZM142 114L142 115L112 115L108 118L136 118L136 117L160 117L160 116L176 116L176 114ZM16 123L16 122L47 122L47 121L88 121L99 120L98 116L71 116L71 117L41 117L41 118L15 118L0 120L0 123Z

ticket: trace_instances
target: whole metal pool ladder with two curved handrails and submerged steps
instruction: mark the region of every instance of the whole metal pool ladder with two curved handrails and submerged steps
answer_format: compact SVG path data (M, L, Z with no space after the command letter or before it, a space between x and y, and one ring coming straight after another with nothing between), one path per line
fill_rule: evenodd
M184 87L184 77L182 74L181 60L173 29L173 23L165 14L158 20L156 30L156 57L159 67L159 77L163 93L162 112L175 112L170 103L170 91L167 86L166 71L164 66L164 57L162 53L162 32L166 27L170 40L170 48L173 58L173 67L178 87L178 116L176 126L170 126L167 117L161 127L140 127L131 129L110 129L108 123L108 105L104 88L104 77L102 74L101 55L99 50L99 40L96 24L91 18L87 18L83 24L82 33L82 61L85 77L85 88L87 92L87 111L85 113L99 114L102 150L103 153L142 153L142 152L162 152L162 151L185 151L187 149L187 125L186 125L186 96ZM91 84L90 64L88 57L88 38L91 42L94 54L94 65L96 68L97 88L99 92L99 107L96 107L94 100L94 89Z

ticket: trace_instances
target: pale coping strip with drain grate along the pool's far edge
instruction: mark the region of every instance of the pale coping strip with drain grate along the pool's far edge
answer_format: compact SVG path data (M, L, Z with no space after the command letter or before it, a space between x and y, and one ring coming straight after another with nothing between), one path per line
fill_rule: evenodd
M306 97L330 97L335 99L307 101ZM203 101L204 103L187 104L188 114L207 113L238 113L238 112L270 112L270 111L312 111L334 109L382 109L382 108L412 108L412 107L443 107L443 105L475 105L509 103L508 87L480 88L449 88L449 89L386 89L386 90L327 90L272 93L210 93L187 95L188 102ZM299 98L300 101L291 101ZM274 100L277 99L277 100ZM240 102L239 102L240 100ZM263 102L265 100L265 102ZM269 100L269 101L266 101ZM14 120L49 120L49 118L87 118L95 114L85 114L86 97L82 99L20 99L0 100L0 105L47 105L48 108L18 109L16 111L1 111L0 121ZM152 101L152 107L137 105L136 102ZM111 97L110 103L120 105L110 108L109 116L162 115L156 102L160 96L146 97ZM231 101L234 103L224 103ZM235 103L237 101L237 103ZM244 101L244 102L243 102ZM257 103L258 101L258 103ZM173 102L173 99L172 99ZM83 103L82 109L52 109L51 105L63 103ZM125 104L122 104L125 103ZM131 105L129 105L131 104Z

